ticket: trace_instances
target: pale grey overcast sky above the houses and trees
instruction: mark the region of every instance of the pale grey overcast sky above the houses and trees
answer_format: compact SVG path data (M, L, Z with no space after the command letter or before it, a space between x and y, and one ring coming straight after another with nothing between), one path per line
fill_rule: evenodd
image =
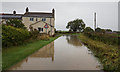
M67 30L66 25L74 19L83 19L86 26L94 28L94 12L97 13L97 26L118 30L117 2L3 2L2 12L24 13L25 8L30 11L52 12L55 9L55 28Z

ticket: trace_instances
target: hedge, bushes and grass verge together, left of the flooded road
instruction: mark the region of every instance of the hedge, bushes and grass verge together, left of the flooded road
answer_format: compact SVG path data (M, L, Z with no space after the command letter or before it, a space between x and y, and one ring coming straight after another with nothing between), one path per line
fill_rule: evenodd
M58 37L40 34L36 29L29 32L21 20L8 20L6 25L2 24L2 69L8 69Z

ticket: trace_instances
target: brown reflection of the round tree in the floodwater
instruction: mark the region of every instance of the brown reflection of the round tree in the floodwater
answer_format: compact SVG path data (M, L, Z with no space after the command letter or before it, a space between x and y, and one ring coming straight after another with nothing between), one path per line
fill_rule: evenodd
M67 35L66 40L68 44L71 44L73 46L82 46L81 41L78 39L78 36L76 35L70 35L70 36Z

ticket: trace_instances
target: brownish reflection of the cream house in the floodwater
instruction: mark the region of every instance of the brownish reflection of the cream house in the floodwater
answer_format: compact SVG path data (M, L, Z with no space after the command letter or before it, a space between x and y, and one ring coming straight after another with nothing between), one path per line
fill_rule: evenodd
M28 58L24 59L23 61L19 62L15 66L11 67L9 70L17 70L22 67L23 64L29 63L30 59L37 59L37 58L50 58L51 61L54 61L54 41L50 44L44 46L40 50L38 50L36 53L32 54Z

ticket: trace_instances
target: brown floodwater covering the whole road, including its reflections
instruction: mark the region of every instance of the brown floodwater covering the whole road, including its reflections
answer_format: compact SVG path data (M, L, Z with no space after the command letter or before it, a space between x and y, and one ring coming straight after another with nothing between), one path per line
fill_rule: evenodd
M100 70L99 62L77 36L61 36L9 70Z

